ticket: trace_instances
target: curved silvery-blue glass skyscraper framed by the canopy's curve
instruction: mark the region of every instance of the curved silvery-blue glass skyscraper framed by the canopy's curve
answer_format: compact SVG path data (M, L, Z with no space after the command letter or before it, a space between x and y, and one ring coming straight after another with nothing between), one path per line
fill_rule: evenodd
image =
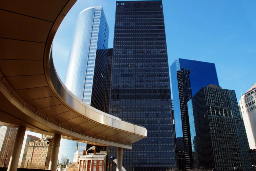
M108 23L101 6L90 7L78 15L69 51L65 85L90 106L103 110ZM61 140L59 158L64 155L73 161L77 146L82 153L85 143Z

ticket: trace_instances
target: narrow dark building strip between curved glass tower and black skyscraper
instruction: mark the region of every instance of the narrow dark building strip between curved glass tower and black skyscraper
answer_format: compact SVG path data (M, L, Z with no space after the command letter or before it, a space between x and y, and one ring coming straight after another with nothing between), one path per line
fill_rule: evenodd
M107 56L107 67L104 85L103 95L103 111L109 113L109 99L110 99L110 86L111 86L111 75L112 75L112 61L113 61L113 49L108 49Z

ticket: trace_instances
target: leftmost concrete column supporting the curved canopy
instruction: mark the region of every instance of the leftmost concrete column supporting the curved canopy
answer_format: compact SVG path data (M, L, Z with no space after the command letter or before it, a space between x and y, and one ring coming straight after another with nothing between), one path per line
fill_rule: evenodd
M19 125L16 137L14 140L14 145L12 148L11 158L10 158L10 162L9 162L7 171L16 171L17 170L25 132L26 132L26 127Z

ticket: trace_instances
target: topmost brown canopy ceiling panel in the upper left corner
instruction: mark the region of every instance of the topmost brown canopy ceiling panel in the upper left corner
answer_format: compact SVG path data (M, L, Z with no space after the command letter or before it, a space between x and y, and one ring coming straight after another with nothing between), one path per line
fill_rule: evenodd
M54 22L67 0L7 0L0 1L1 9Z

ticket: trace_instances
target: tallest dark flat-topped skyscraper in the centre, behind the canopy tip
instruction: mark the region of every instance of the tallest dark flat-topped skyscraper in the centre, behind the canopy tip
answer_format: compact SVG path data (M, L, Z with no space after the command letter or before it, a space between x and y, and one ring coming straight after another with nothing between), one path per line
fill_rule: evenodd
M117 1L109 114L148 131L124 149L126 170L175 167L169 81L162 1ZM116 149L109 147L109 155Z

